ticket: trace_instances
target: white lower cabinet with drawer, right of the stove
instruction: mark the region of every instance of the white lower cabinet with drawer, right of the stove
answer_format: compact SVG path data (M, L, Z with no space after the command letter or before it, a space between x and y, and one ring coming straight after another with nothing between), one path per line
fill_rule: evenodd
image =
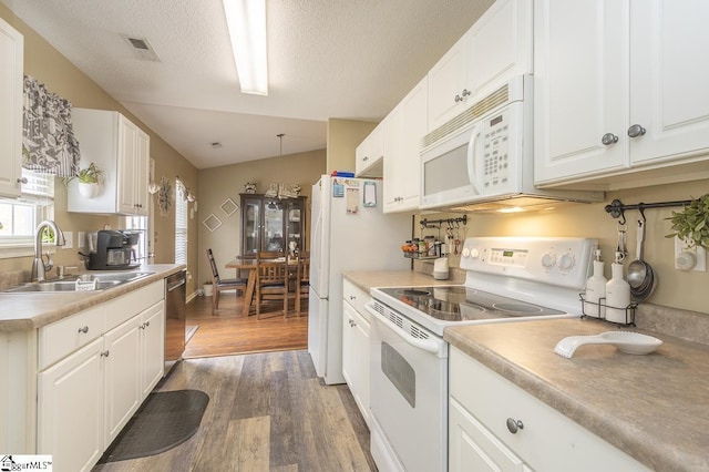
M648 471L630 455L454 347L450 355L449 468Z

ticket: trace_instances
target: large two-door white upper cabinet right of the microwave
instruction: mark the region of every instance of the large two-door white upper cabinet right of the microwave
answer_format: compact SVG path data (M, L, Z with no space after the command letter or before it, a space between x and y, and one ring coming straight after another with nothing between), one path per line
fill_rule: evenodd
M538 0L534 8L535 183L628 187L701 168L709 85L698 78L709 64L697 58L709 50L708 3ZM696 167L668 168L676 164Z

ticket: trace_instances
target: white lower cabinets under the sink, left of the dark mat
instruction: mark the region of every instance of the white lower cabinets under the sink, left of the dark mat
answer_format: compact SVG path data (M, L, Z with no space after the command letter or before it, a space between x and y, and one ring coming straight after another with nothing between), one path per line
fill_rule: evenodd
M162 378L163 298L158 281L40 329L37 452L56 470L91 470Z

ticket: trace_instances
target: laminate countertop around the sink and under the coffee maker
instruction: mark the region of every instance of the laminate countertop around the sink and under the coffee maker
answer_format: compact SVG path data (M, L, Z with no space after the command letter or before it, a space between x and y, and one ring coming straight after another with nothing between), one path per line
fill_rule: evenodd
M81 293L0 293L0 331L37 329L62 318L116 298L136 288L161 280L186 266L184 264L150 264L130 271L153 273L114 288ZM129 270L126 270L127 273ZM102 271L95 271L96 274Z

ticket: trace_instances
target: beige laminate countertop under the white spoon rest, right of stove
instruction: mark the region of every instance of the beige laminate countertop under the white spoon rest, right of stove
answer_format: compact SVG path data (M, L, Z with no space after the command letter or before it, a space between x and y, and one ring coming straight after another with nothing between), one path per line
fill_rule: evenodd
M650 469L709 470L709 346L633 328L662 346L646 356L607 345L571 359L554 352L567 336L617 329L559 319L453 327L444 338Z

